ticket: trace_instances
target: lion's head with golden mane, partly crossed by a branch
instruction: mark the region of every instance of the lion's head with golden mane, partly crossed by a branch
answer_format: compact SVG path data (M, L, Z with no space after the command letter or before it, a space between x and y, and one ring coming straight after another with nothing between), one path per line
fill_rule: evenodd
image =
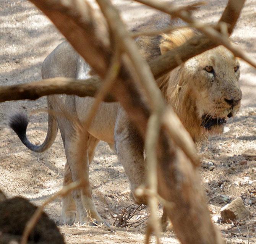
M161 53L183 44L193 35L190 29L164 34ZM222 133L227 118L239 110L242 98L239 77L237 58L219 46L189 59L158 83L194 141L200 142L208 134Z

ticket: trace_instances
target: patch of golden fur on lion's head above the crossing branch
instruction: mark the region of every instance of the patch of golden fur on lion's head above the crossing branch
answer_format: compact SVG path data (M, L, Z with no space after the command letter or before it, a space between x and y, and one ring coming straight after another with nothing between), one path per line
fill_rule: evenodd
M163 34L160 42L161 54L178 47L194 36L194 31L189 28L182 28L172 31L170 34Z

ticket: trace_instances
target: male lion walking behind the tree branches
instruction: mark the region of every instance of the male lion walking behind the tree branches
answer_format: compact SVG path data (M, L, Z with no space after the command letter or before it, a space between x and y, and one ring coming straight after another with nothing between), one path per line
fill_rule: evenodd
M154 21L148 21L135 31L160 29L171 24L166 16L153 19ZM138 37L136 43L141 55L149 61L183 44L195 34L196 32L191 29L180 29L162 36ZM42 65L43 78L65 76L86 79L90 76L89 71L89 65L67 42L58 45ZM226 48L220 46L191 58L157 82L167 103L180 117L194 142L200 143L208 134L221 133L226 118L237 113L242 98L238 84L239 76L237 59ZM51 95L47 100L50 110L64 110L81 124L86 120L94 102L90 97L71 95ZM102 102L92 126L85 131L89 137L88 149L81 150L83 152L80 151L80 155L76 153L76 129L73 121L60 116L60 113L56 113L55 116L48 115L48 132L41 145L33 145L27 139L28 118L25 115L13 116L10 125L21 141L34 152L48 149L60 128L67 158L64 185L79 179L78 157L83 154L88 184L83 189L73 191L72 196L63 198L62 215L65 223L72 224L75 221L76 210L81 223L89 222L90 218L97 223L103 222L92 200L88 176L89 163L92 162L99 141L115 145L118 158L130 181L131 195L136 203L146 202L145 199L134 196L134 190L146 181L143 142L118 103Z

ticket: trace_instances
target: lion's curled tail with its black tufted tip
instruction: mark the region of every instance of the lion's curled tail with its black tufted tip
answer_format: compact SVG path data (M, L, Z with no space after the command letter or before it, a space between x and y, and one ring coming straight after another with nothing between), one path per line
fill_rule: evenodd
M28 115L24 112L16 113L10 117L9 125L15 131L21 142L33 152L44 152L55 141L58 132L58 122L53 115L48 114L48 131L44 142L41 145L32 144L27 135Z

